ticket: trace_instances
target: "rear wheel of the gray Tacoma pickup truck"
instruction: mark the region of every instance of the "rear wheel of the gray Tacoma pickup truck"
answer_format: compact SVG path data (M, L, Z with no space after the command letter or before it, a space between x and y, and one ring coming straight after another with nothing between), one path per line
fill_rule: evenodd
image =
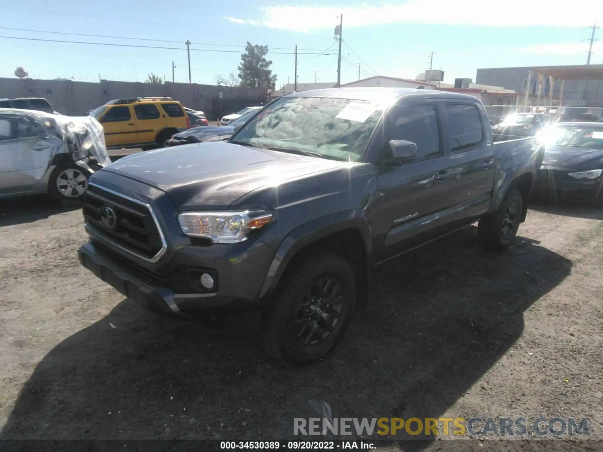
M517 235L523 212L523 196L517 189L508 190L496 212L479 220L478 237L486 250L506 250Z

